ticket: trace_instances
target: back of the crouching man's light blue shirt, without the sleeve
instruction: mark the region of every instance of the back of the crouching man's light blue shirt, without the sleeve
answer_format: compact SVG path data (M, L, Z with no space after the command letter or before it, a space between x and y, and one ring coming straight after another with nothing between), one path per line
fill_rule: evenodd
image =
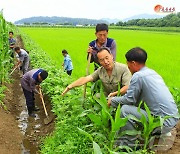
M152 114L162 116L178 113L168 87L162 77L154 70L143 67L140 71L134 73L132 80L139 83L139 87L136 89L141 91L139 99L145 101Z

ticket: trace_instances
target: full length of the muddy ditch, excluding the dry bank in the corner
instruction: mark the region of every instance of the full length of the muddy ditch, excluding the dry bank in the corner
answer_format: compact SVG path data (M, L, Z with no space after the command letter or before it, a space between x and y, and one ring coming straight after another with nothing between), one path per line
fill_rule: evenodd
M23 40L21 36L17 36L17 45L24 48ZM24 94L20 85L21 74L16 70L12 77L14 79L12 85L12 101L10 103L10 111L18 120L18 126L23 134L22 140L22 152L21 154L36 154L39 153L39 145L41 144L41 138L47 136L54 130L54 121L48 125L44 125L43 121L45 117L39 96L36 96L35 104L40 108L40 111L35 112L36 118L28 116ZM48 114L52 115L51 103L47 97L44 99Z

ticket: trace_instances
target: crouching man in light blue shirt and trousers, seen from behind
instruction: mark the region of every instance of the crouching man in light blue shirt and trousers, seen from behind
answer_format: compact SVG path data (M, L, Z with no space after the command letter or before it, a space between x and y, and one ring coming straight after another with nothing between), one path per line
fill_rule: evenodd
M145 50L139 47L132 48L125 56L129 70L133 74L129 88L125 95L110 98L108 100L108 106L117 108L120 104L121 117L134 115L140 119L141 114L137 111L137 106L141 101L145 102L153 116L172 116L164 121L163 128L160 130L160 133L172 139L174 134L176 134L175 126L178 122L178 109L168 87L159 74L146 67L147 53ZM146 111L141 109L141 113L148 121ZM137 125L137 123L129 119L120 131L134 130ZM136 139L135 136L125 135L120 137L117 143L118 145L134 147Z

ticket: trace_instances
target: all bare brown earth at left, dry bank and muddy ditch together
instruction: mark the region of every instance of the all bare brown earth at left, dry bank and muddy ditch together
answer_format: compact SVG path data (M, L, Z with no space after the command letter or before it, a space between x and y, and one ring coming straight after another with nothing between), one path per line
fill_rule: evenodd
M21 37L18 36L17 39L18 45L24 47ZM42 137L54 130L54 120L48 125L44 124L46 116L39 96L36 96L35 103L40 111L35 112L36 118L29 117L20 86L20 72L16 70L12 78L13 82L6 85L3 100L7 111L0 105L0 154L36 154ZM53 116L46 96L44 100L47 112Z

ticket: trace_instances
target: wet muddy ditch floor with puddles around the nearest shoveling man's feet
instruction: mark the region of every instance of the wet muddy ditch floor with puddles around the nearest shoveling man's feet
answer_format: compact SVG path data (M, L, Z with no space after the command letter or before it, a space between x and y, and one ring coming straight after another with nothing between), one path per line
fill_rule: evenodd
M40 108L39 111L34 112L36 117L32 118L28 116L27 107L25 104L25 98L21 90L18 94L18 105L16 109L16 115L18 120L18 126L23 134L22 141L22 152L21 154L36 154L39 153L39 145L41 144L41 138L48 135L54 130L54 121L48 125L44 124L44 118L46 118L41 99L39 96L35 96L35 104ZM51 105L48 98L44 97L47 112L51 117L53 114L51 112Z

